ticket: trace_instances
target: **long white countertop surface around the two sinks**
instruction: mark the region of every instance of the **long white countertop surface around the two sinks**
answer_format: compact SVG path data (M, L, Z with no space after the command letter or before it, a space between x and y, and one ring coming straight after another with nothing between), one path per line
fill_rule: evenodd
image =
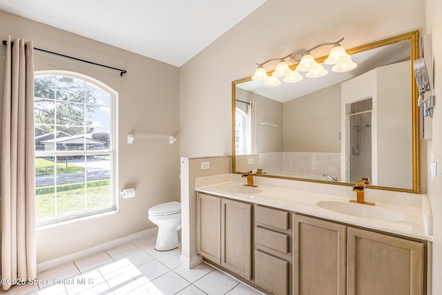
M279 187L271 187L265 185L259 185L258 189L260 189L260 192L258 193L232 193L230 191L226 191L224 187L228 185L243 186L244 182L229 180L227 182L209 184L210 182L213 182L214 179L215 178L212 178L209 182L202 181L198 183L197 181L197 187L195 187L195 191L209 193L212 195L221 196L224 198L231 198L244 202L251 202L254 204L262 204L265 206L293 211L296 213L302 213L309 216L325 218L327 220L343 222L347 225L356 225L358 227L385 231L388 233L398 234L411 238L418 238L421 240L432 240L431 236L427 234L427 230L424 224L424 219L428 219L428 217L425 216L425 209L423 208L425 207L425 200L421 202L420 205L419 202L416 201L409 202L408 204L406 204L407 202L403 202L405 204L376 202L376 207L390 209L399 213L403 213L403 215L405 215L405 219L401 221L386 221L336 213L335 211L318 207L318 205L316 204L320 201L348 202L349 198L345 197L333 196L325 193L298 191L295 189L281 189ZM202 185L198 187L198 184ZM426 196L423 195L416 195L416 197L417 196L421 196L421 198L426 198ZM356 193L354 193L354 198L356 198ZM364 204L358 205L367 206Z

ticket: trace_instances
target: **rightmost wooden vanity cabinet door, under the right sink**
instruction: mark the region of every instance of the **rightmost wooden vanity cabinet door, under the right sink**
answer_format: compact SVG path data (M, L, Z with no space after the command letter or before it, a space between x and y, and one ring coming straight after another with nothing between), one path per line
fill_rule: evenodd
M423 294L421 242L352 227L347 235L349 295Z

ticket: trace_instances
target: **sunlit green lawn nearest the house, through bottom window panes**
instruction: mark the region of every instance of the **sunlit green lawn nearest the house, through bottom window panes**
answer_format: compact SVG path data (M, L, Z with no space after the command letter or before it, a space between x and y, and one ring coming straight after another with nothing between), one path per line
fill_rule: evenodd
M50 187L37 188L37 220L108 206L111 198L111 182L105 180L88 183L87 195L84 184L57 187L57 198L54 192L55 189Z

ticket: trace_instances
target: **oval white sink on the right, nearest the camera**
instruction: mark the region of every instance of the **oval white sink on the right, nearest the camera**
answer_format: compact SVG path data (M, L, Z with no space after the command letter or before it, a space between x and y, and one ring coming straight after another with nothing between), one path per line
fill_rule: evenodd
M405 219L403 213L393 210L384 209L376 206L369 206L366 204L356 204L351 202L336 202L336 201L321 201L316 205L323 209L332 210L336 213L341 213L349 216L356 216L361 218L372 218L387 221L401 221Z

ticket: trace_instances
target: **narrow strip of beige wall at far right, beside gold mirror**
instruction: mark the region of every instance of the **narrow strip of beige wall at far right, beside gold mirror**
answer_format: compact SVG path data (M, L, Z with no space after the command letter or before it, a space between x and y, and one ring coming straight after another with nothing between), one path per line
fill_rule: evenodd
M432 140L427 142L427 158L430 162L431 154L439 163L436 179L428 178L428 196L433 211L433 265L432 294L442 294L442 1L427 0L427 34L432 35L432 66L434 67L434 91L436 104L432 119ZM431 63L431 61L430 61ZM437 103L439 101L439 104Z

